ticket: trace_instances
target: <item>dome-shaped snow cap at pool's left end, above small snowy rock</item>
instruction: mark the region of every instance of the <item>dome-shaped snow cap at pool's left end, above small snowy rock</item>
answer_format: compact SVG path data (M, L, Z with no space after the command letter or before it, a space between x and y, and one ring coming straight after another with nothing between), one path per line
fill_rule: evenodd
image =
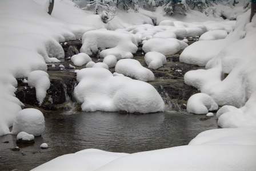
M27 108L18 112L14 119L11 133L26 132L34 136L41 136L45 131L45 117L38 109Z

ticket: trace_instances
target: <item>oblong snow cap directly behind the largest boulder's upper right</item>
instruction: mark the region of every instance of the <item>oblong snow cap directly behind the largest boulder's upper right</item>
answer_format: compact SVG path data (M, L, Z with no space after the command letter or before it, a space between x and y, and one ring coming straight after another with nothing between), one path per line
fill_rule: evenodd
M115 72L130 76L143 82L153 81L155 76L152 71L143 67L138 60L135 59L121 59L115 66Z

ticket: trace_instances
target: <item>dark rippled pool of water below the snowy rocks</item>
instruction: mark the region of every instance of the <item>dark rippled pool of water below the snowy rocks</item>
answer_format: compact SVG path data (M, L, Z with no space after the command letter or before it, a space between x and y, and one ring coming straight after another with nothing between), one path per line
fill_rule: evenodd
M0 170L29 170L57 156L87 148L134 153L186 145L198 133L217 128L214 117L204 118L204 115L178 112L147 115L46 113L46 132L36 137L34 145L21 147L16 152L10 150L16 146L15 136L0 137ZM50 148L40 149L41 143L49 144Z

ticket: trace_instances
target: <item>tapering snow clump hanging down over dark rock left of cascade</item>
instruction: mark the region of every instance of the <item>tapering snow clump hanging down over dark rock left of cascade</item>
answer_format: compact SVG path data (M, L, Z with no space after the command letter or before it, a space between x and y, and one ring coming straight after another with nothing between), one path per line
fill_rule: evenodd
M27 83L30 87L35 87L38 104L41 105L46 96L47 89L50 88L49 75L45 71L30 72Z

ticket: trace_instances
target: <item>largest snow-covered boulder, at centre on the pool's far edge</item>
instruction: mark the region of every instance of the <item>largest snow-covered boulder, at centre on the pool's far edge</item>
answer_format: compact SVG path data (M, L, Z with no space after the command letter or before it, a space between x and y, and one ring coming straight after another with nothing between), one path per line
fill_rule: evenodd
M126 60L126 59L125 59ZM84 68L77 72L79 84L74 96L82 110L160 112L165 104L153 86L126 76L113 76L104 68Z

